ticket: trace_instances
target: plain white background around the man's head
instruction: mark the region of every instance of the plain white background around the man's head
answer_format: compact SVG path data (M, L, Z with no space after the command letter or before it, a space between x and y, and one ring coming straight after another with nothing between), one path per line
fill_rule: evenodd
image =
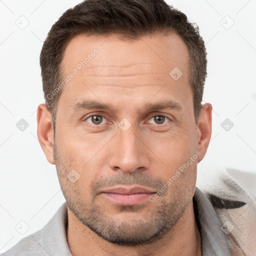
M55 166L37 140L35 111L44 102L42 42L57 18L78 2L0 0L0 252L44 226L64 202ZM213 131L198 174L226 167L256 172L256 1L167 2L198 24L208 53L203 101L213 106ZM17 26L26 22L24 29ZM16 127L21 118L29 125L24 131ZM234 124L228 131L221 127L226 118ZM15 229L21 220L29 226L24 234ZM24 231L26 224L21 222Z

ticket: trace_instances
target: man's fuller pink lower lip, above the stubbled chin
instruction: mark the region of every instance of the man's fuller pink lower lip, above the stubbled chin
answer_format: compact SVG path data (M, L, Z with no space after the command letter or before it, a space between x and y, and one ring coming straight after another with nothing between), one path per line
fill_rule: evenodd
M148 200L152 193L136 193L136 194L117 194L117 193L103 193L111 201L122 205L139 204Z

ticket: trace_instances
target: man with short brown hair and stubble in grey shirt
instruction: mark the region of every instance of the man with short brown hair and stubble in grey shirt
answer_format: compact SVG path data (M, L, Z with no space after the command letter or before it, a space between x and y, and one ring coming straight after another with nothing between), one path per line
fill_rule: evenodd
M52 26L40 65L37 135L66 203L3 255L254 252L251 225L231 232L233 212L255 207L249 193L238 183L232 198L222 193L231 174L219 193L195 186L212 107L201 105L204 42L182 12L162 0L86 0Z

